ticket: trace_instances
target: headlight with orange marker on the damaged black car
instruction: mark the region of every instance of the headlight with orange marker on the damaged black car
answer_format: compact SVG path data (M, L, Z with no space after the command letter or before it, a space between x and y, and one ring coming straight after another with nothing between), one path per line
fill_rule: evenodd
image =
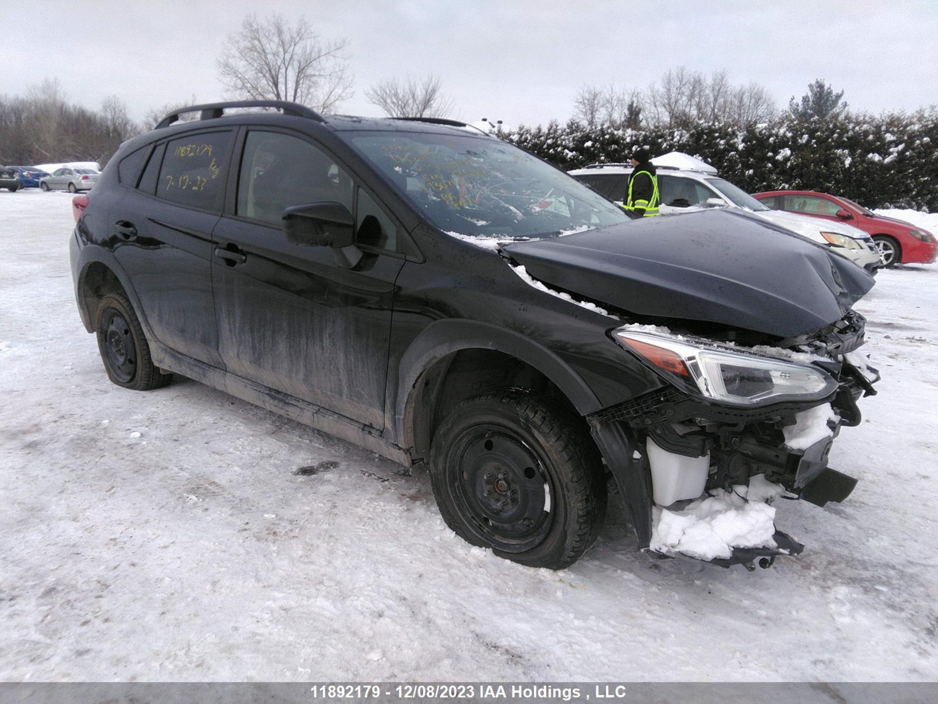
M613 330L613 337L665 375L677 377L706 398L734 406L822 399L838 387L832 376L810 364L758 357L627 328Z

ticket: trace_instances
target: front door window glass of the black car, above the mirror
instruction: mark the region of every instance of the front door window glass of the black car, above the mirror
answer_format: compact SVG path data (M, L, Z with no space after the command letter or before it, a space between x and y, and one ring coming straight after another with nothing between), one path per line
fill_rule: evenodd
M327 202L353 209L352 179L334 159L289 134L248 132L236 215L279 227L287 207Z

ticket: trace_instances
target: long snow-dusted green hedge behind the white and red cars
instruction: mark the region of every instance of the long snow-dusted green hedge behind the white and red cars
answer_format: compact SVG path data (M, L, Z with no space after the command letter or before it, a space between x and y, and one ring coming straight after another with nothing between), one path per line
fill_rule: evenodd
M833 120L787 117L745 130L719 122L689 129L588 129L570 120L500 134L565 170L628 161L630 151L643 145L655 154L682 151L708 161L750 193L809 189L867 207L938 212L938 110L933 108Z

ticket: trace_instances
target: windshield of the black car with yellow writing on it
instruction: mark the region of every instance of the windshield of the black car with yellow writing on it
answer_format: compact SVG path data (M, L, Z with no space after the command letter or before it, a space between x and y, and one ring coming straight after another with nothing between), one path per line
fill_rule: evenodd
M352 143L447 233L552 237L628 221L576 179L497 139L366 132Z

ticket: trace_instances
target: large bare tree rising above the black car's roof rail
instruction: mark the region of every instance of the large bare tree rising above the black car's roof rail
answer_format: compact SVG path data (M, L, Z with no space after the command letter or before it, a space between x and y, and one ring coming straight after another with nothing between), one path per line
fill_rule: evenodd
M303 17L290 24L276 13L248 15L228 35L219 81L230 98L292 100L327 113L352 97L347 46L347 39L320 38Z

